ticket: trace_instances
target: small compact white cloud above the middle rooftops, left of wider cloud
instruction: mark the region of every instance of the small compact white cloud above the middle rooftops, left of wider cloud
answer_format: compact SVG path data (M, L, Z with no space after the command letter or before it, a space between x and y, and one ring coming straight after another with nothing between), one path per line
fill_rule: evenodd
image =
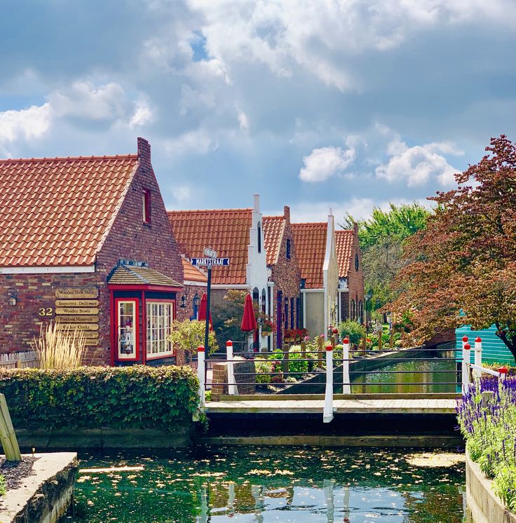
M313 149L311 154L304 156L304 167L299 171L303 182L324 182L339 174L353 163L355 149L350 147L343 151L340 147L321 147Z

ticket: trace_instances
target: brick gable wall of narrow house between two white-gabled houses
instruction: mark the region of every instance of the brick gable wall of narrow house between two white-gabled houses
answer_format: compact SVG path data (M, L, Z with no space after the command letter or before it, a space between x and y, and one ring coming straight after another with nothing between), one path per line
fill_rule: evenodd
M288 299L288 315L289 317L285 320L283 330L285 328L290 329L290 306L291 298L294 298L294 328L297 325L297 306L296 300L301 294L300 283L301 283L301 269L296 257L296 245L294 243L294 234L292 233L292 226L290 224L290 208L285 205L283 208L283 217L285 221L285 228L283 231L283 238L279 247L278 261L276 264L271 266L271 280L274 282L273 292L271 296L271 311L273 312L273 322L278 323L276 318L277 311L277 292L281 291L283 294L283 304L281 310L285 310L285 298ZM290 259L287 259L287 240L290 240ZM266 341L264 341L266 344ZM272 334L272 348L276 348L278 340L276 336L276 330L273 330Z

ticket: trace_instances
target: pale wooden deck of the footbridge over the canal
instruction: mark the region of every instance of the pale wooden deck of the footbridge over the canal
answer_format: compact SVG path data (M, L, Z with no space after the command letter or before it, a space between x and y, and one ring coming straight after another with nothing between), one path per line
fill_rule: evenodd
M455 414L453 398L335 399L334 414ZM324 400L222 400L207 402L207 414L322 414Z

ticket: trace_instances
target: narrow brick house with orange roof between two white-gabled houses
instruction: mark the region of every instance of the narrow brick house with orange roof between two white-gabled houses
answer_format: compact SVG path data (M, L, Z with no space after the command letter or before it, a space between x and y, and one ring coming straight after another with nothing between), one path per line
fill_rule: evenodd
M267 348L281 347L285 329L301 327L301 269L296 257L290 208L283 216L264 216L264 244L269 268L269 303L276 330L267 339Z

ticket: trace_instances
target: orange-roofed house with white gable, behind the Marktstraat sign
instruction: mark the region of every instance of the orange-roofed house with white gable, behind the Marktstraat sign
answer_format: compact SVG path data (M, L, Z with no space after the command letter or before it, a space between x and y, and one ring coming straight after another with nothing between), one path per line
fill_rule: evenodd
M212 318L224 307L224 296L230 289L252 294L260 310L270 314L268 271L264 245L263 216L259 196L254 195L253 208L169 211L172 232L179 251L189 260L203 257L204 247L217 251L219 257L229 257L229 266L212 269ZM226 340L219 339L219 346ZM266 348L259 329L249 339L249 345ZM248 348L246 347L246 349Z

